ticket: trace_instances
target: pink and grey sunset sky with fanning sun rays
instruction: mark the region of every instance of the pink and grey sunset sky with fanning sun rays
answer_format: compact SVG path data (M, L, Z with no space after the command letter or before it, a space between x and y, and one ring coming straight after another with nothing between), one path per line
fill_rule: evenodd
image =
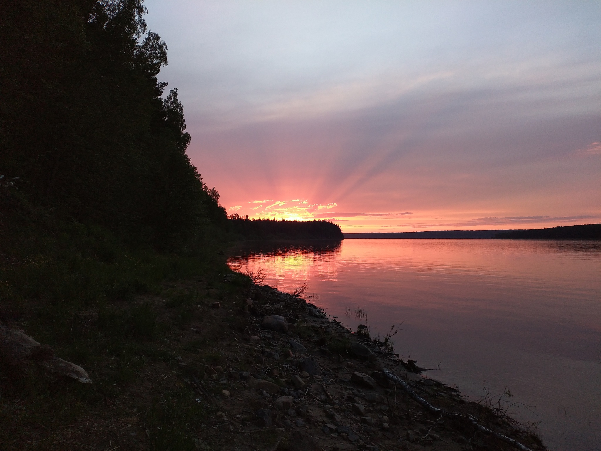
M146 2L228 213L344 232L601 222L601 2Z

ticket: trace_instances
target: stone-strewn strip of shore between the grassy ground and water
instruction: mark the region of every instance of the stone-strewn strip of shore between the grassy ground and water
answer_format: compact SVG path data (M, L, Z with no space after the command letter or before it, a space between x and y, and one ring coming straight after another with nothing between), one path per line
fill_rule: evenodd
M199 391L218 393L209 398L219 405L213 428L240 437L222 449L545 449L531 432L413 372L411 363L304 299L254 286L244 302L248 327L228 360L243 361L248 369L210 367L212 374L193 382ZM395 376L409 391L391 380ZM416 399L445 414L432 413ZM260 430L272 431L275 443L251 443ZM200 440L200 449L211 447L207 439Z

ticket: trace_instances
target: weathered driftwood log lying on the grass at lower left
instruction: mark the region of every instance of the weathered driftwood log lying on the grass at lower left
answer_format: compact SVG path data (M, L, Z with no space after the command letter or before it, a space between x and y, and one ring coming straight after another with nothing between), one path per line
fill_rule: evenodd
M50 346L41 345L22 331L7 327L2 321L0 361L17 374L29 373L35 365L50 376L75 379L82 384L92 383L92 379L81 366L55 357Z

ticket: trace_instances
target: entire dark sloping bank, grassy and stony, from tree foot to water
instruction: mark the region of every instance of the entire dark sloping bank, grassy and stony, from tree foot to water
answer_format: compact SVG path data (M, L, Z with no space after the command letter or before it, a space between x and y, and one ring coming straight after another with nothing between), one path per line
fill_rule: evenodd
M23 311L35 313L35 302ZM52 327L1 311L7 327L40 343ZM52 352L90 380L0 372L1 449L546 449L502 411L242 274L166 280L64 317L78 341Z

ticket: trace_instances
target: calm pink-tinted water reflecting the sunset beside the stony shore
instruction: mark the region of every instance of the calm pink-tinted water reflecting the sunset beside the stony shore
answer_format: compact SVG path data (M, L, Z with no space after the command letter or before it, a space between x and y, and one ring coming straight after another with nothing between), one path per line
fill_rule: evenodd
M552 450L601 450L601 243L436 239L246 242L233 268L290 292L479 399L507 387ZM367 318L356 314L365 311Z

